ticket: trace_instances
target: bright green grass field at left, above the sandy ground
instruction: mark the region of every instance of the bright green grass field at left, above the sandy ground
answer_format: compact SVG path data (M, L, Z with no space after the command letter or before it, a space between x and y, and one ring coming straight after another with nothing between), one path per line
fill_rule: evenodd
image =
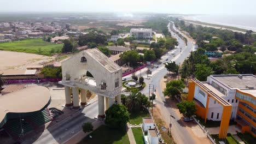
M36 53L46 56L50 56L51 53L61 52L62 47L62 44L48 43L42 39L26 39L0 44L0 50Z

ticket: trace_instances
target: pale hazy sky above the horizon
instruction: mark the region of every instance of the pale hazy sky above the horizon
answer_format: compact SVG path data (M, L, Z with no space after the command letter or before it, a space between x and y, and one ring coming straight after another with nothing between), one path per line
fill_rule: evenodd
M256 0L0 0L0 12L256 15Z

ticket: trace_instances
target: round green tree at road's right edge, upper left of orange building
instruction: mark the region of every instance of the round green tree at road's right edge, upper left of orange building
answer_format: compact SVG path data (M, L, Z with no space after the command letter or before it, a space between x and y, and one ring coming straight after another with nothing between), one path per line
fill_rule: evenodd
M185 88L183 81L173 80L166 83L166 88L164 89L164 95L174 98L176 95L180 96L182 89Z

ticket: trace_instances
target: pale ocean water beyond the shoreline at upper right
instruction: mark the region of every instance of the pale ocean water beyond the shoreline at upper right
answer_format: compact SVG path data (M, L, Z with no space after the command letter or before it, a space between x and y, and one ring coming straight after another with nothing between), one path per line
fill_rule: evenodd
M248 30L251 29L256 32L256 15L196 15L190 16L189 19Z

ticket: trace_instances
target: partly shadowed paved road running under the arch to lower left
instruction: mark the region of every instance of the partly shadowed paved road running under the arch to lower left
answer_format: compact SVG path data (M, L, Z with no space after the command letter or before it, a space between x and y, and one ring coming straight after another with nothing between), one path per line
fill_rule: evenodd
M85 107L82 112L77 112L73 116L64 119L53 127L45 129L34 143L63 143L72 135L81 130L81 125L85 122L96 121L94 117L98 115L98 101ZM72 131L74 132L72 134ZM33 140L27 140L22 143L32 143Z

